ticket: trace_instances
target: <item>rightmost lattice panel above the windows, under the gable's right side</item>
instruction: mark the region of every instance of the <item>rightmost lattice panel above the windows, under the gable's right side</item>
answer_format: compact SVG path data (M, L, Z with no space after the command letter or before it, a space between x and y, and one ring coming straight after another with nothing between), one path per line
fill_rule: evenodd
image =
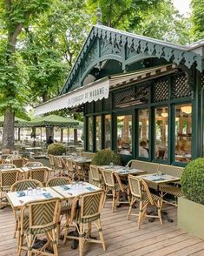
M184 98L191 95L188 86L188 78L184 74L178 74L173 78L172 83L172 98Z

